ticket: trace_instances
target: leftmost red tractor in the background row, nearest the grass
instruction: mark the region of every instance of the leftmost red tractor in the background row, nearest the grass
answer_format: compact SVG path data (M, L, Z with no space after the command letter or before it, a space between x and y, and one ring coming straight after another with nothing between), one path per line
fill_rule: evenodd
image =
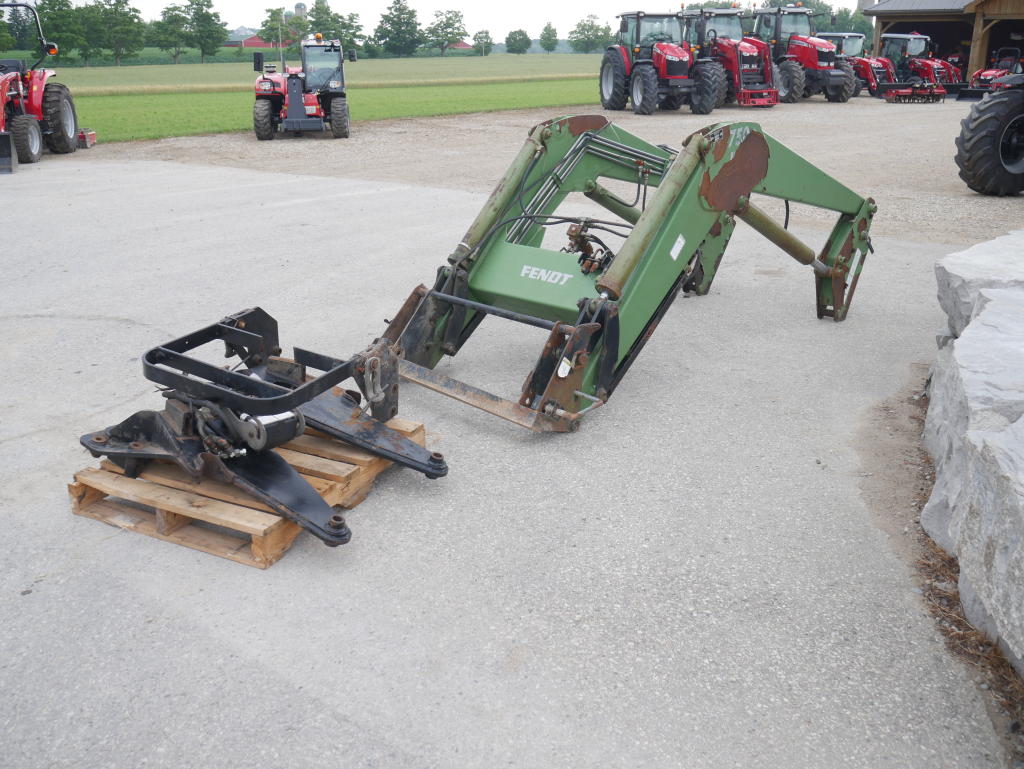
M698 58L683 39L683 13L623 13L618 40L601 60L601 106L637 115L678 110L685 103L708 115L726 91L725 70L711 57Z

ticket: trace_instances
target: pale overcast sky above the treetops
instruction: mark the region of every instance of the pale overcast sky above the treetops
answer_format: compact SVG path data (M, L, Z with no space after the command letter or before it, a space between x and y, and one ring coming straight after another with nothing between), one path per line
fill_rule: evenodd
M131 4L139 9L142 17L153 19L160 17L161 9L168 5L171 0L132 0ZM312 5L312 0L305 0L306 5ZM266 15L267 7L291 7L295 0L213 0L214 10L220 12L220 17L227 23L227 28L233 30L237 27L259 27ZM362 23L364 31L372 33L381 13L390 4L390 0L355 0L354 2L341 2L334 0L331 8L339 13L358 13ZM745 4L745 3L744 3ZM761 3L758 2L758 5ZM839 0L834 4L853 7L853 0ZM513 2L475 2L460 3L459 0L451 0L443 4L436 4L431 0L410 0L410 5L416 9L420 24L425 24L433 18L435 10L462 10L466 18L466 29L469 34L479 30L488 30L490 36L498 41L505 39L512 30L523 29L530 37L537 38L541 35L544 25L551 22L558 31L558 37L565 38L577 22L590 13L594 13L602 23L614 26L615 14L624 10L635 10L634 6L628 4L628 0L588 0L587 2L551 2L550 0L514 0ZM658 8L658 3L644 6L643 3L635 4L645 7L645 10L654 12ZM671 3L664 6L665 10L675 10L678 5Z

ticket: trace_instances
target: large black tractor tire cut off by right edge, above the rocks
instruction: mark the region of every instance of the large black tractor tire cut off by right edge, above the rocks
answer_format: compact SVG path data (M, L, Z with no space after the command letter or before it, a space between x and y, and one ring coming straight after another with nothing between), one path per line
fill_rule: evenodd
M956 165L967 185L982 195L1024 190L1024 89L986 95L961 121Z

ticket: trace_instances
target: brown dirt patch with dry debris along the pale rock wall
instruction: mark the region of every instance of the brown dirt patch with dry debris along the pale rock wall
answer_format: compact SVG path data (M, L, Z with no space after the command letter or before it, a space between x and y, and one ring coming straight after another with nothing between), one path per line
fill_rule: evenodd
M915 590L942 633L946 648L968 667L1008 756L1024 766L1024 682L984 635L964 615L956 589L956 559L921 527L921 510L932 493L935 471L921 443L928 412L928 367L912 368L909 383L876 405L861 427L857 448L863 476L860 490L876 523L916 572Z

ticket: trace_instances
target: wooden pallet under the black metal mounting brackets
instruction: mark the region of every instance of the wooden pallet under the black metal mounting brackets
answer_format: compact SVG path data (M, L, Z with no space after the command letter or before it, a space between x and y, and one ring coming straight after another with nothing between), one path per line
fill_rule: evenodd
M387 424L425 444L419 422L392 419ZM344 508L362 502L377 476L392 464L311 429L275 451L329 505ZM99 467L75 473L68 493L76 515L258 568L278 561L302 530L240 488L206 478L194 483L165 462L150 463L137 478L128 478L103 460Z

